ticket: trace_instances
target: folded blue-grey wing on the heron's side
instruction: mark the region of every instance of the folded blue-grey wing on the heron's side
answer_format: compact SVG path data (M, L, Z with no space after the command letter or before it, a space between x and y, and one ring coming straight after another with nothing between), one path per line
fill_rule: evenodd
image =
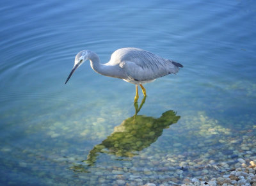
M130 52L126 58L122 60L120 66L124 68L127 77L135 81L150 81L179 71L179 66L175 65L174 61L160 58L145 50L133 54Z

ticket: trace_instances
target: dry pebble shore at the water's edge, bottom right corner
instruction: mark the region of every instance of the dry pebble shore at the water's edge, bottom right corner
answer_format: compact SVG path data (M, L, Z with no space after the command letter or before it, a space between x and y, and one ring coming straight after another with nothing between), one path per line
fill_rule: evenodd
M254 157L253 157L254 158ZM178 184L175 182L163 183L159 186L168 186L168 185L205 185L205 186L231 186L231 185L244 185L244 186L256 186L256 159L250 160L250 164L246 164L246 160L237 159L241 164L241 167L237 167L235 170L230 170L230 174L225 174L217 178L185 178L183 184ZM154 183L147 183L143 186L156 186Z

